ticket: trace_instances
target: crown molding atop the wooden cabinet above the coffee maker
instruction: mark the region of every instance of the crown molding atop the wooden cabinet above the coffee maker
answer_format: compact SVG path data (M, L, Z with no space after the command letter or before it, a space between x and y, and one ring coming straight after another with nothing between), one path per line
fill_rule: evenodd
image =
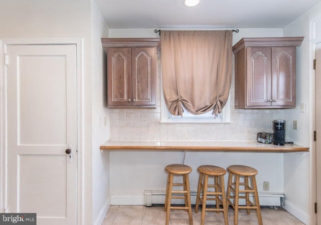
M244 47L262 46L300 46L304 37L254 37L242 38L232 48L233 53L239 52Z

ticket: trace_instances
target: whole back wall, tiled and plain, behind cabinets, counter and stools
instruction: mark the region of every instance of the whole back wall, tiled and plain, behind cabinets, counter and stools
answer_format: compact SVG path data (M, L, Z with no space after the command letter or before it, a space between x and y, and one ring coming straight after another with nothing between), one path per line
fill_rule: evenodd
M239 29L233 32L233 43L242 37L282 36L282 29ZM110 29L109 37L159 37L154 29ZM259 131L272 132L272 120L282 119L280 109L235 109L234 78L231 88L232 123L166 124L160 121L161 71L157 66L157 107L155 109L111 109L111 139L208 139L255 140ZM164 167L181 163L182 153L152 151L110 151L111 203L142 204L144 189L165 190ZM201 164L246 164L258 169L257 183L270 182L270 192L283 192L282 153L187 152L185 163L193 168L191 190L196 190ZM226 177L227 181L227 177Z

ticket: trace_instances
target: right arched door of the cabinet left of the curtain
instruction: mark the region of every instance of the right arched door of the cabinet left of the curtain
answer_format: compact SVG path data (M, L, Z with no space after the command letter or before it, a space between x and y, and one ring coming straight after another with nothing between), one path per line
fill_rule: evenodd
M156 49L132 48L132 97L133 105L154 105L156 86Z

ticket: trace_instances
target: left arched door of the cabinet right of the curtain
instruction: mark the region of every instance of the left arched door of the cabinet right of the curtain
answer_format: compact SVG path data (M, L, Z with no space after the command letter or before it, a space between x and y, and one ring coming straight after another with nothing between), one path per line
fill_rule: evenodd
M269 106L271 47L249 47L247 57L247 106Z

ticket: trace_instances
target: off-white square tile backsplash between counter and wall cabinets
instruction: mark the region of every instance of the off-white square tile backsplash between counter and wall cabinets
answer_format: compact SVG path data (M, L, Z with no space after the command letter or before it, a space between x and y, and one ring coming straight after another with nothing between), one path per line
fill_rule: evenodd
M258 132L273 132L272 121L282 109L235 109L234 65L231 122L161 123L161 63L157 55L156 108L111 108L110 139L256 140Z

